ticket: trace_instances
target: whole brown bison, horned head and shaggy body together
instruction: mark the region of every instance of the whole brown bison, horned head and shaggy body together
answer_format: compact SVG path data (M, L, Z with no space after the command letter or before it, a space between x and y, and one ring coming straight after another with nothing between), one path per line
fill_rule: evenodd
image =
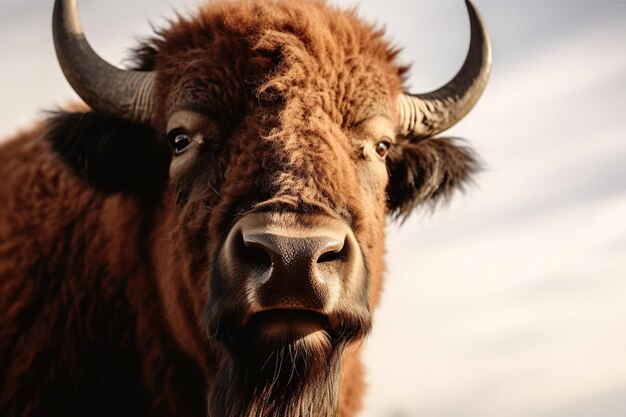
M102 61L57 0L84 100L0 147L0 414L349 417L386 219L467 183L435 137L490 71L405 92L383 31L322 1L222 1Z

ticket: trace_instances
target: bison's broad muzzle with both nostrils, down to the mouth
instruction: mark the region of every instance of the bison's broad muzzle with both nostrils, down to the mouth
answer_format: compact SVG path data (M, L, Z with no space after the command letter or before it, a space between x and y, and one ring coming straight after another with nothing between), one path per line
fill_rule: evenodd
M232 294L251 314L330 314L340 297L356 299L366 285L354 233L346 222L324 215L247 214L228 232L217 266L214 296Z

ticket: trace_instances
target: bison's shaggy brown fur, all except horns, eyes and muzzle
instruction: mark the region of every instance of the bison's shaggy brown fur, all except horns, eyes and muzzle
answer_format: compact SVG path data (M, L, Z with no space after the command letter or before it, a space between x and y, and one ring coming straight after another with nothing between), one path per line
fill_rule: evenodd
M367 125L397 122L396 54L322 2L210 4L137 52L157 72L153 126L62 113L3 145L0 415L354 415L385 218L475 166L444 139L399 138L377 159ZM166 124L183 109L214 128L168 178ZM222 333L237 296L215 260L251 210L350 225L367 276L338 307L341 334Z

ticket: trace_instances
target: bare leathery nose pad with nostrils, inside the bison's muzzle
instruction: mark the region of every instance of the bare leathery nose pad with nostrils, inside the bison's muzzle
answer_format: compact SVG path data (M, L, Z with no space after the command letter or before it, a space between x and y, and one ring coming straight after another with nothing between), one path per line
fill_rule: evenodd
M348 251L345 233L325 232L294 237L242 230L242 260L256 270L252 284L261 307L324 311L334 301Z

